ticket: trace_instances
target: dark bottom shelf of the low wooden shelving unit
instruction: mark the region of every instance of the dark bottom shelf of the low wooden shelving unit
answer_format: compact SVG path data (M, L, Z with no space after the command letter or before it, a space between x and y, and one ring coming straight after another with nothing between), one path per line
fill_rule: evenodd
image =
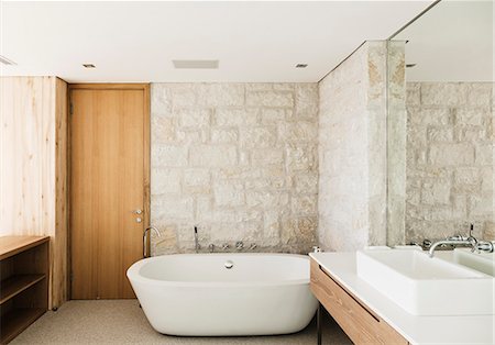
M0 325L0 329L2 330L0 343L9 343L44 313L45 310L42 308L13 309L6 313L2 316Z

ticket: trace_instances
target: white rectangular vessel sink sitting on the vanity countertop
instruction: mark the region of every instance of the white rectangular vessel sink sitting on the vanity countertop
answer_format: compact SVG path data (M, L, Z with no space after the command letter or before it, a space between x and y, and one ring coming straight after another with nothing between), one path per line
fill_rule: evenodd
M494 314L494 277L419 251L356 252L358 276L414 315Z

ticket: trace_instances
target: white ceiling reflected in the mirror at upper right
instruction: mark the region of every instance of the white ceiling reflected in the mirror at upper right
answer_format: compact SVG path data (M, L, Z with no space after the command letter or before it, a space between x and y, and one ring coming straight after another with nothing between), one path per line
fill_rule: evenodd
M493 81L494 3L441 1L394 40L406 45L408 81Z

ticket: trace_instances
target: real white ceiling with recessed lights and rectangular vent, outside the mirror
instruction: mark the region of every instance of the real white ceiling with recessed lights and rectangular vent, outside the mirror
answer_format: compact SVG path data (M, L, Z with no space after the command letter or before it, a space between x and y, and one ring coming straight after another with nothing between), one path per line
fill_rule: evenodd
M318 81L432 1L0 1L3 76L69 82ZM218 69L175 69L218 59ZM308 64L295 68L296 64ZM86 69L82 64L95 64Z

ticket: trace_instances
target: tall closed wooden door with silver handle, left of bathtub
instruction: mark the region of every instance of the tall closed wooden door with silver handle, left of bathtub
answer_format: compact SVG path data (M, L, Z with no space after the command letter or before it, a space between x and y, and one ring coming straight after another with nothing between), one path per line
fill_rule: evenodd
M125 271L148 223L148 88L74 85L70 107L72 298L134 298Z

